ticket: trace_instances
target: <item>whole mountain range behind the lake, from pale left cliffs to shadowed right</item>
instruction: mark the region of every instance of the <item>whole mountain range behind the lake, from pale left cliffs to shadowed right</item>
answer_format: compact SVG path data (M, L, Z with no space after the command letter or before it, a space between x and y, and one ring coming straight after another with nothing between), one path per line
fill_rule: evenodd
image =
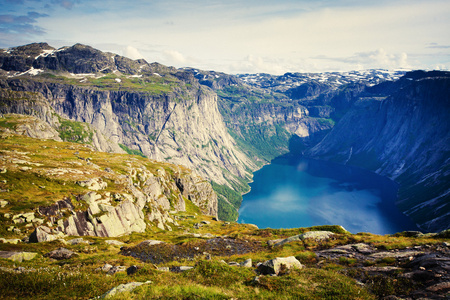
M81 44L0 50L0 112L35 117L22 133L183 165L211 184L204 212L221 220L236 220L252 172L291 152L389 177L421 230L448 229L449 83L445 71L229 75Z

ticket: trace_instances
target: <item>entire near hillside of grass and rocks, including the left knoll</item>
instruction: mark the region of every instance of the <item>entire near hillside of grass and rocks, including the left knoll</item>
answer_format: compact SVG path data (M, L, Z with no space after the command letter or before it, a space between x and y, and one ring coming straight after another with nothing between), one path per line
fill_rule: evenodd
M2 299L448 296L448 231L217 221L211 186L182 166L57 141L30 116L0 126Z

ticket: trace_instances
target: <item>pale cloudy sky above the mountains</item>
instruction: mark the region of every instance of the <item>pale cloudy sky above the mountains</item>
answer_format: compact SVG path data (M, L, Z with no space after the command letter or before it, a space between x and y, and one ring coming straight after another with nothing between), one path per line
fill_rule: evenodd
M450 69L449 0L0 0L0 48L76 43L229 74Z

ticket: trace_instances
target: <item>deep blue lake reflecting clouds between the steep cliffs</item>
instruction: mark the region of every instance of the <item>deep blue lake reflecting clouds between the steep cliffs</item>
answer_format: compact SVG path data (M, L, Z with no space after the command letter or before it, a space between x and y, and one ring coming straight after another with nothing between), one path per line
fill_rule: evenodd
M342 225L351 233L418 230L395 206L398 186L370 171L335 163L279 157L254 173L240 223L259 228Z

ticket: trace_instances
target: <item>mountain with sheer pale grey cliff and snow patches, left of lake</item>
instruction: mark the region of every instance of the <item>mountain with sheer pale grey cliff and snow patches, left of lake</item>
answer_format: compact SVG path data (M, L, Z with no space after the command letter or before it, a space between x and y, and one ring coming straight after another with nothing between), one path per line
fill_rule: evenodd
M80 44L3 50L0 67L0 112L37 116L66 140L182 164L226 190L245 190L256 168L227 132L216 94L189 72ZM220 201L220 217L236 218Z

